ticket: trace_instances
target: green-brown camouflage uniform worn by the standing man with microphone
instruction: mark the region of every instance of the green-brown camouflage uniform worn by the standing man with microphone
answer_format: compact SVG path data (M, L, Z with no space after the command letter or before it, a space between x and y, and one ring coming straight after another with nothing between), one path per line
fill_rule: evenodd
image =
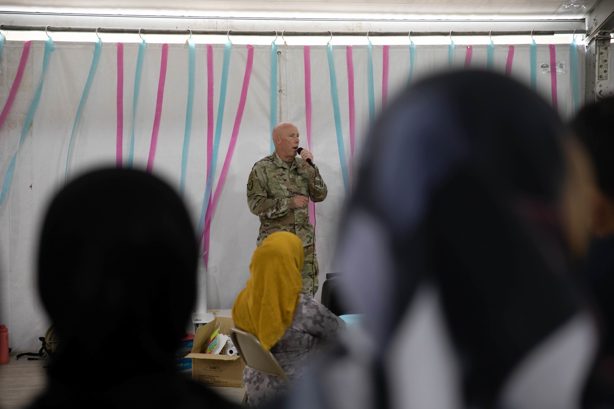
M309 197L322 201L327 195L326 185L316 168L310 168L297 156L290 166L277 152L254 164L247 179L247 205L249 211L260 217L260 232L256 246L275 232L294 233L303 241L305 262L303 294L316 294L319 281L313 226L309 222L309 206L293 209L294 197Z

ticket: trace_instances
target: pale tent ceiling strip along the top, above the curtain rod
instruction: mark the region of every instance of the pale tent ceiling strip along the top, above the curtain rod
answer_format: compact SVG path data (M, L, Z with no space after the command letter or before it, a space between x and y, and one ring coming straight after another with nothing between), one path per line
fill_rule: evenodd
M598 0L8 0L0 9L106 10L109 14L224 15L274 14L394 15L391 18L584 18Z

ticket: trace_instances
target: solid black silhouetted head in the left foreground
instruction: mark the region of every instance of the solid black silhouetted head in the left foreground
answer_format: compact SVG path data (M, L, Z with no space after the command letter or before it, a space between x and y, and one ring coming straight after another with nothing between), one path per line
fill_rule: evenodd
M103 169L61 190L39 247L39 290L62 341L43 406L184 404L173 353L196 261L184 204L157 177Z

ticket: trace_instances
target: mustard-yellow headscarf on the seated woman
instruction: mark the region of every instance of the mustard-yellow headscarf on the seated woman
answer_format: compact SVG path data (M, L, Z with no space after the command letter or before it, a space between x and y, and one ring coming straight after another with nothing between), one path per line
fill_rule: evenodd
M236 297L232 319L237 328L253 333L271 349L292 324L303 289L303 243L296 235L278 232L254 251L251 278Z

